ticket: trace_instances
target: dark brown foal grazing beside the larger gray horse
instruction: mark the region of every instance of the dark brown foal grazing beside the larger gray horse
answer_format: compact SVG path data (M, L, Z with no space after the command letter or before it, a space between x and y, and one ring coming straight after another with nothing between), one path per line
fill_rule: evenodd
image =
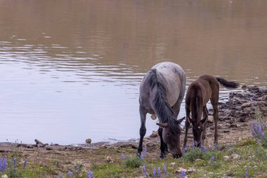
M183 147L185 148L188 128L190 123L193 124L193 137L195 141L195 146L200 146L206 137L207 128L207 102L210 100L213 107L213 117L215 123L215 133L214 133L214 144L218 144L218 128L217 123L219 120L218 113L218 101L219 101L219 83L221 83L226 88L237 88L238 83L234 81L226 81L221 77L214 76L200 76L196 81L191 83L188 87L188 91L185 96L185 137L183 142ZM192 118L190 118L190 112ZM201 120L203 112L203 119Z

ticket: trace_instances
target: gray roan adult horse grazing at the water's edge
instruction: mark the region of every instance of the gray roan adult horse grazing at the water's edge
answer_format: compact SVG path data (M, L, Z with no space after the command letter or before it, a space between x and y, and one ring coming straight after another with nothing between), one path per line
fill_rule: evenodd
M172 62L156 64L143 77L140 86L139 112L141 117L140 141L138 156L143 151L143 137L145 136L145 116L147 113L156 114L159 118L160 158L164 158L169 151L174 158L181 157L180 123L177 120L180 105L185 95L185 74L183 69Z

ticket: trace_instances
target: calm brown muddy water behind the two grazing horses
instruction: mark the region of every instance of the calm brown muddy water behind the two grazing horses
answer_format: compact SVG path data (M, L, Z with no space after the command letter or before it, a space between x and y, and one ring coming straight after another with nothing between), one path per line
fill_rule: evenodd
M187 85L267 85L267 1L0 0L0 142L136 138L139 83L166 60Z

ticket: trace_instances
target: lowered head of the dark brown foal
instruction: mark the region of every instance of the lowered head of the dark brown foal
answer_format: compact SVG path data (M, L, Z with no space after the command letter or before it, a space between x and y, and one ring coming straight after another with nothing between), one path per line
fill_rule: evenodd
M202 139L203 123L205 122L205 120L201 120L199 122L191 118L189 119L193 125L193 136L194 136L195 146L200 147L202 144L201 139Z

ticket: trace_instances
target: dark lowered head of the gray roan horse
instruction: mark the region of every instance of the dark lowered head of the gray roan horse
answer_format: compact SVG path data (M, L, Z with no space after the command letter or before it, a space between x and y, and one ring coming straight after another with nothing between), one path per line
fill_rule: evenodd
M184 118L176 120L177 124L180 124ZM165 144L167 144L169 151L171 151L172 156L174 158L178 158L182 156L181 146L180 146L180 135L181 135L181 128L177 127L175 130L174 128L170 127L169 123L157 123L159 127L163 128L162 130L162 139Z

